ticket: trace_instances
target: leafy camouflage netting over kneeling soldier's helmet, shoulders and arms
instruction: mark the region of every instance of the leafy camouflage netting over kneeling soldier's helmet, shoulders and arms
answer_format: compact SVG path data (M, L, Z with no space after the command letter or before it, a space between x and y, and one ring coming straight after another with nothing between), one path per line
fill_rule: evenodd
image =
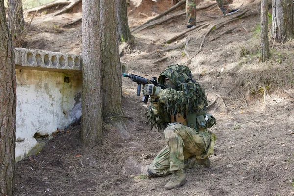
M200 113L203 112L205 110L205 106L207 106L205 91L201 88L198 82L192 79L192 74L189 68L186 66L176 65L178 67L172 69L175 71L168 70L172 66L169 66L163 72L164 74L172 74L164 75L161 73L161 76L163 80L165 77L168 77L173 82L176 82L178 89L175 90L168 88L161 90L159 93L158 103L155 103L156 107L154 107L151 103L146 113L147 123L151 124L151 129L153 126L158 128L158 130L165 129L166 126L171 123L170 115L176 115L179 113L182 116L185 116L188 112ZM181 69L182 67L185 68ZM179 71L182 75L177 74L177 71ZM188 79L184 79L186 77L183 76L183 74L188 76ZM154 108L156 108L157 111Z

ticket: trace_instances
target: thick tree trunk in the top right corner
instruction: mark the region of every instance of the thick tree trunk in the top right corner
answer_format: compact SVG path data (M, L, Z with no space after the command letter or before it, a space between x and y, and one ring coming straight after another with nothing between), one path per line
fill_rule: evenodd
M271 36L280 43L294 37L293 0L272 0Z

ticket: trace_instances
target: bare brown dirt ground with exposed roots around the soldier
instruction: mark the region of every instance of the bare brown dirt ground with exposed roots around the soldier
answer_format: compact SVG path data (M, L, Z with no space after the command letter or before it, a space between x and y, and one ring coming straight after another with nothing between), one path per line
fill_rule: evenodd
M197 7L214 3L199 1ZM249 10L250 15L207 34L199 53L208 30L237 14L223 17L219 8L212 6L197 11L198 23L208 26L170 44L168 39L187 30L185 15L133 33L134 44L120 46L121 61L129 73L151 79L169 64L186 63L190 67L208 93L208 112L217 119L211 128L218 140L210 169L197 166L185 170L187 183L173 190L164 189L170 176L147 178L148 164L166 143L162 132L155 128L150 131L146 125L147 104L136 96L136 84L123 78L123 109L132 117L128 124L131 139L124 140L119 130L105 124L103 144L85 148L79 138L80 122L59 130L45 141L40 153L16 164L15 196L294 196L294 99L290 97L294 91L287 84L258 89L259 84L253 82L268 77L267 70L274 66L291 72L294 63L283 52L268 65L262 64L258 55L248 53L259 44L258 3L234 0L232 7L240 7L239 13ZM130 0L129 4L130 28L172 6L171 0ZM81 23L61 27L81 16L80 6L56 17L52 13L48 10L34 18L25 47L80 54ZM232 27L236 28L221 35ZM217 35L221 37L212 40ZM178 49L164 51L181 44ZM293 47L286 50L293 52Z

